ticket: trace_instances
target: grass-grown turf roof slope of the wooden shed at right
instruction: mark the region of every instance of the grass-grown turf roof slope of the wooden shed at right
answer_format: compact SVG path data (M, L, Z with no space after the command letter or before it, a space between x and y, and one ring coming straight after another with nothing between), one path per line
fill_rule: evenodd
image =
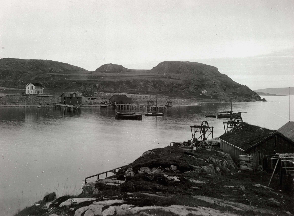
M273 132L273 130L243 122L238 127L228 131L228 133L221 135L220 139L246 150L270 136Z

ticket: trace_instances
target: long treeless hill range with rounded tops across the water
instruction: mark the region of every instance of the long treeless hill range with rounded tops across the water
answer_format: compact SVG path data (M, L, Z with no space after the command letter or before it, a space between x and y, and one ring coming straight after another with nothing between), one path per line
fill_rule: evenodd
M95 71L49 60L0 59L0 86L24 88L40 82L47 89L158 94L172 97L255 101L260 97L216 67L195 62L165 61L151 70L105 64ZM201 94L203 90L207 94Z

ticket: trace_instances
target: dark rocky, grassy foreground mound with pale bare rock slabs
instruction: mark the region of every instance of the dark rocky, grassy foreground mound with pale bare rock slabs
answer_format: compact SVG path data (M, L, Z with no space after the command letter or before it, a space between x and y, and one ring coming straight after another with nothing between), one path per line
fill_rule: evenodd
M230 155L221 151L191 152L172 146L153 149L115 175L86 183L78 196L39 201L17 216L253 216L293 212L293 193L290 197L263 186L270 174L236 168ZM276 184L278 178L272 181Z

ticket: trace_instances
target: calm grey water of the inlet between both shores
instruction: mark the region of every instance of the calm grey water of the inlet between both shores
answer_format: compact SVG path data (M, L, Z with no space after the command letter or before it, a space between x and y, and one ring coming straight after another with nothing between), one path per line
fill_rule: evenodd
M233 103L244 122L278 129L289 120L289 97L266 96L269 102ZM294 114L291 96L291 120ZM86 176L133 162L144 151L191 139L191 125L203 120L224 132L227 119L205 118L230 109L229 103L173 107L163 117L115 120L114 110L83 108L68 114L53 108L0 107L0 215L43 198L80 193Z

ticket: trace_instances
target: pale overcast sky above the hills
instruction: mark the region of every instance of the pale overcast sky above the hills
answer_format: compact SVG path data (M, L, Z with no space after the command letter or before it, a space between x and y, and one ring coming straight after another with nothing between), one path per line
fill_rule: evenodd
M294 86L293 0L1 0L0 58L96 70L194 61L250 89Z

